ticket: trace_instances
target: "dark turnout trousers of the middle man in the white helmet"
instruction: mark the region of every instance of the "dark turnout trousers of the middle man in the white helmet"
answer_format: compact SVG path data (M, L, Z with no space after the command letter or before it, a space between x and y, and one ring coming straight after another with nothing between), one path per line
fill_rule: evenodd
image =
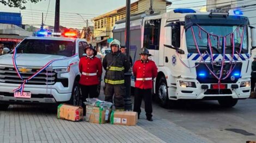
M111 85L105 83L103 87L105 94L105 101L113 103L113 95L114 95L114 106L115 109L124 109L124 96L126 92L126 88L124 84L120 85Z

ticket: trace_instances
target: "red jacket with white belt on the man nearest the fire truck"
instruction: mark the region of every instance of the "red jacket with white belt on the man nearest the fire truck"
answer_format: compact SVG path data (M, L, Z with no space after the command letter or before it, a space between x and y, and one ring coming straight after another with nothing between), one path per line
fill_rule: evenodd
M140 89L153 88L153 79L157 76L157 67L154 61L142 62L138 60L133 65L133 75L135 78L141 80L135 81L135 87ZM152 80L142 80L145 78L152 78Z

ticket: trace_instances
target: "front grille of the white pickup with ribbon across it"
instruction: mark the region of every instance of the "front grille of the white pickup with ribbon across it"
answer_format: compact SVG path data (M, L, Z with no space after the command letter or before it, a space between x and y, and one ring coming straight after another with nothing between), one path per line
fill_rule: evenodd
M19 67L19 69L22 67ZM20 72L23 79L28 79L36 73L40 68L22 68L26 72ZM29 80L27 85L54 85L56 83L57 74L51 68L43 70L40 74L36 75L33 79ZM21 84L23 80L17 75L14 67L0 67L0 82Z

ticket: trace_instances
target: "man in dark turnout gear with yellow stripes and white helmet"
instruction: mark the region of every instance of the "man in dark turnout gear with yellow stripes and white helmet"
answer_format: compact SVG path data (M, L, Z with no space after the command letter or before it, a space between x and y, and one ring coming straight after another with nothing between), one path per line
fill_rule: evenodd
M130 63L128 57L119 51L120 42L113 40L110 43L111 53L108 53L103 61L102 66L106 70L104 77L105 87L105 101L113 103L115 109L124 109L124 73L130 69Z

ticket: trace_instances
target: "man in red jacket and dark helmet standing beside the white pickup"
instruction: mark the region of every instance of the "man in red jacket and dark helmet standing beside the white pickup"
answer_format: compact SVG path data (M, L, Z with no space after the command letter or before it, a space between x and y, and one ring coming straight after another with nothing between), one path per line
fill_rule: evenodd
M97 86L100 84L99 78L102 74L101 60L95 57L97 53L94 47L89 44L85 52L87 56L82 57L79 62L79 70L81 73L79 83L82 92L82 102L85 102L88 96L89 98L96 98L96 90ZM84 108L83 111L86 111L86 105L82 103L82 106Z

